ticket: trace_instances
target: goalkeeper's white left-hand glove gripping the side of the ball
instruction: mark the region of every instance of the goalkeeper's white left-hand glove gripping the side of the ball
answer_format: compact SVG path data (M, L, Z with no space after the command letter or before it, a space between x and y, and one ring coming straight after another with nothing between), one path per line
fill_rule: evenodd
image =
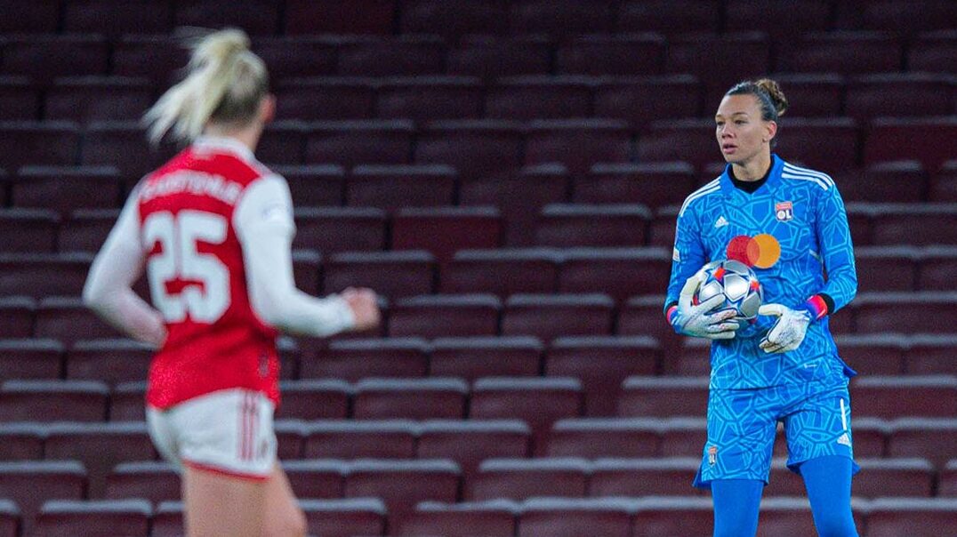
M709 312L724 302L723 295L716 295L710 299L694 305L695 292L701 285L704 273L699 271L684 282L678 299L678 305L668 310L668 322L681 335L711 340L729 340L735 335L735 330L741 327L737 322L727 322L736 313L733 309Z

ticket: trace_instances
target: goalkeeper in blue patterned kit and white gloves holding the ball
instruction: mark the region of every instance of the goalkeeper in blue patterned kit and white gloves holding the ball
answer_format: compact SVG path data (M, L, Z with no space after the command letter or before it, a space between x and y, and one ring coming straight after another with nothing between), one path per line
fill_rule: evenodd
M831 177L771 153L787 106L773 80L728 90L715 116L728 165L678 215L665 314L679 334L713 340L708 437L694 484L711 489L716 536L756 533L778 421L818 534L857 535L848 393L857 373L828 328L857 293L854 248ZM754 323L721 310L721 295L693 300L701 266L724 258L746 262L764 286Z

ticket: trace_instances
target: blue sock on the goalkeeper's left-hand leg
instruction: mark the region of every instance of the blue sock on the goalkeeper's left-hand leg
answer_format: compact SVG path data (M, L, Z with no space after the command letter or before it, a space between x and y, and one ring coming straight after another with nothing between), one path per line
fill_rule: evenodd
M758 531L758 511L765 481L711 481L715 503L714 537L747 537Z

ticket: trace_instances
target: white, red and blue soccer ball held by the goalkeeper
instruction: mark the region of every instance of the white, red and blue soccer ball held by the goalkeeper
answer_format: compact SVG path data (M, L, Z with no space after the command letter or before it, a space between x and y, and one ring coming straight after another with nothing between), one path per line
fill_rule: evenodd
M765 291L750 267L741 261L722 259L711 261L702 270L704 280L693 299L696 305L716 295L723 295L724 303L714 311L735 310L737 315L733 321L752 322L757 319Z

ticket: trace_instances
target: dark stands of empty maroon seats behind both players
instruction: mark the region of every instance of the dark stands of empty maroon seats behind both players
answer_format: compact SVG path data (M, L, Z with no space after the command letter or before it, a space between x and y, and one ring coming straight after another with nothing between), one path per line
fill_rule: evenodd
M771 75L777 152L832 174L860 280L832 321L861 535L957 535L957 3L0 0L0 535L182 532L149 353L78 295L174 148L138 119L236 26L272 72L258 155L300 288L381 331L284 340L280 457L326 535L709 535L707 348L663 321L723 91ZM141 286L145 287L145 286ZM777 445L783 457L783 442ZM812 535L777 460L761 535Z

